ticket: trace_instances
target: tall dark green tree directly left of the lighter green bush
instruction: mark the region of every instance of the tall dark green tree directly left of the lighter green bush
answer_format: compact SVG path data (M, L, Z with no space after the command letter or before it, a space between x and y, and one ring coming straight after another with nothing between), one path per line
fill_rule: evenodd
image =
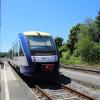
M71 54L73 54L73 51L75 49L74 46L78 41L78 35L80 33L81 26L82 24L77 24L76 26L72 27L72 29L70 30L69 39L67 41L67 47L69 48Z

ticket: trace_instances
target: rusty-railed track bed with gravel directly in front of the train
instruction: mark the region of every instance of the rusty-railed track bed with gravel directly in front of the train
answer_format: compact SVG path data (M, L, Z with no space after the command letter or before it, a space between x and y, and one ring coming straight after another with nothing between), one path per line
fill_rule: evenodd
M57 81L36 85L32 90L40 100L95 100Z

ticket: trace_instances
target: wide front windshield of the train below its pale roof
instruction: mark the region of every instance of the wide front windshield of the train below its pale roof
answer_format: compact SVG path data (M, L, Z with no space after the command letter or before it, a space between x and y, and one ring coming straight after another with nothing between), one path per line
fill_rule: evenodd
M28 36L30 47L55 47L52 37L48 36Z

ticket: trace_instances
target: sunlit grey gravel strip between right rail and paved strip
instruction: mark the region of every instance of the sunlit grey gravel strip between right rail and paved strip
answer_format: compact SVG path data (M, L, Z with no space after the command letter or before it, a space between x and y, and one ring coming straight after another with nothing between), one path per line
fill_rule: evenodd
M81 82L71 80L71 83L67 85L68 87L71 87L79 92L82 92L86 95L89 95L96 100L100 100L100 87L97 89L95 87L92 87L89 84L83 84Z

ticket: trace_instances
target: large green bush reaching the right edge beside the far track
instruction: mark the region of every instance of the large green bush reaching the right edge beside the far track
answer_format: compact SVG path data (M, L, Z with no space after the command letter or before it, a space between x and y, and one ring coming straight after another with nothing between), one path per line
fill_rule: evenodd
M80 34L76 48L83 61L88 63L100 62L100 44L93 42L88 34Z

